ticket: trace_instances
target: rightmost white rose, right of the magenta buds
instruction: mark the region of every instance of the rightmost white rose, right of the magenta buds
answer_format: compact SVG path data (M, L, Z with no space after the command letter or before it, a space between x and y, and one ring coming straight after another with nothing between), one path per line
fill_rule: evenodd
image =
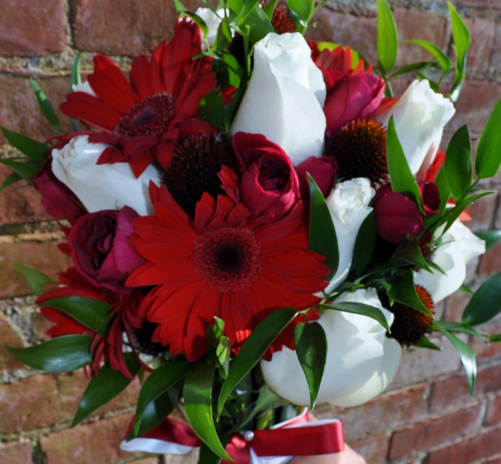
M443 228L437 231L439 236ZM485 242L479 239L459 219L456 219L442 237L442 245L431 256L431 261L445 273L421 269L414 283L424 287L436 304L452 295L466 278L466 264L485 253Z

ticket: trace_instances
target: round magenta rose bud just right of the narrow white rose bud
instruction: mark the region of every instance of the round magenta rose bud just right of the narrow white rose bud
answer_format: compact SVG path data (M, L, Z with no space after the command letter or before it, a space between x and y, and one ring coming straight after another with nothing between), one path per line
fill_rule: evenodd
M377 233L387 242L398 245L405 237L417 237L424 230L424 219L417 204L390 184L381 187L372 200Z

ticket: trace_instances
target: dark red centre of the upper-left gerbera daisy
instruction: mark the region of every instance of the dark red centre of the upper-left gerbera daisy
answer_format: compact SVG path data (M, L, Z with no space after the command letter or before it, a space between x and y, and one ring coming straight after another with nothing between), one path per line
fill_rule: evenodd
M120 118L115 134L124 137L162 135L174 117L176 101L177 98L171 94L143 98Z

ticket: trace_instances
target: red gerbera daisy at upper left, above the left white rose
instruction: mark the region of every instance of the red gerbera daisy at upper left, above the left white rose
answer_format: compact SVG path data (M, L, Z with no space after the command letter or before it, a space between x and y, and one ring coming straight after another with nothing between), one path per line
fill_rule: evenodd
M70 93L61 110L104 131L89 139L113 145L99 163L129 161L136 176L154 159L168 166L179 126L195 116L200 99L216 85L212 58L193 60L200 47L200 28L184 18L150 62L145 55L134 59L130 83L109 58L94 57L88 82L96 96Z

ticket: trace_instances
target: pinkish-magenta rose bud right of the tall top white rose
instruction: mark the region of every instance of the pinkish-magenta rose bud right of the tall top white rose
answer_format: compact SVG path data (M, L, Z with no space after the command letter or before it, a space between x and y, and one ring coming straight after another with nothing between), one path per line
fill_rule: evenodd
M324 78L327 85L324 105L327 134L375 111L386 87L382 79L368 72L350 76L339 71L325 71Z

